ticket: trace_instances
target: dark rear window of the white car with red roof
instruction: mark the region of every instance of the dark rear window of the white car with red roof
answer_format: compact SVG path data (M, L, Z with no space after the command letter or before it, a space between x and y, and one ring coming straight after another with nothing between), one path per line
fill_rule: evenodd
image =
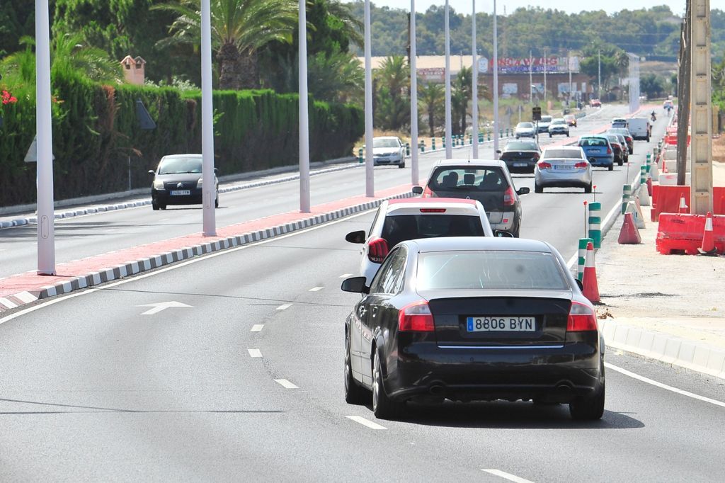
M385 218L382 237L389 247L401 241L441 236L485 236L481 218L474 215L393 215Z

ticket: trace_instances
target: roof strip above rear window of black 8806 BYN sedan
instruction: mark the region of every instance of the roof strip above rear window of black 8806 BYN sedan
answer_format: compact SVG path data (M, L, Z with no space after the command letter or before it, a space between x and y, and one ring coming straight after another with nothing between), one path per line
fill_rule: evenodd
M450 252L453 250L510 250L518 252L549 252L554 249L541 240L499 236L446 236L405 241L418 252Z

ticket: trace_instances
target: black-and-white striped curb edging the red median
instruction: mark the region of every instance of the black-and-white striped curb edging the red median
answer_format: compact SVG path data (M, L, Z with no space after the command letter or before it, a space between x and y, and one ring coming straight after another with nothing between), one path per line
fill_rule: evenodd
M199 257L201 255L206 255L207 253L218 252L223 249L239 247L244 244L254 243L255 241L270 239L275 236L289 234L293 231L310 228L311 226L317 226L322 223L378 207L378 205L388 199L411 198L414 196L415 194L413 194L412 191L407 191L389 197L378 198L374 201L361 203L359 205L321 213L305 220L271 226L269 228L249 233L228 236L227 238L212 241L210 243L183 247L171 252L159 253L157 255L152 255L138 260L130 260L120 265L101 268L99 271L86 273L86 275L83 276L73 277L64 281L59 281L56 284L43 286L38 292L19 292L0 298L0 313L2 313L3 310L17 308L22 305L35 302L39 299L54 297L56 295L67 294L73 290L104 284L109 281L118 280L127 276L136 275L137 273L153 270L154 268L159 268L164 265L169 265L170 263L187 260L192 257Z

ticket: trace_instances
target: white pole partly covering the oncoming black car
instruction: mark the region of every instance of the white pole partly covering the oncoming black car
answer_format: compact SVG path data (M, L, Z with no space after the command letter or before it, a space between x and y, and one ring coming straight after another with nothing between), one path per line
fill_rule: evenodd
M216 236L214 202L214 107L212 105L212 16L202 0L202 202L204 236Z

